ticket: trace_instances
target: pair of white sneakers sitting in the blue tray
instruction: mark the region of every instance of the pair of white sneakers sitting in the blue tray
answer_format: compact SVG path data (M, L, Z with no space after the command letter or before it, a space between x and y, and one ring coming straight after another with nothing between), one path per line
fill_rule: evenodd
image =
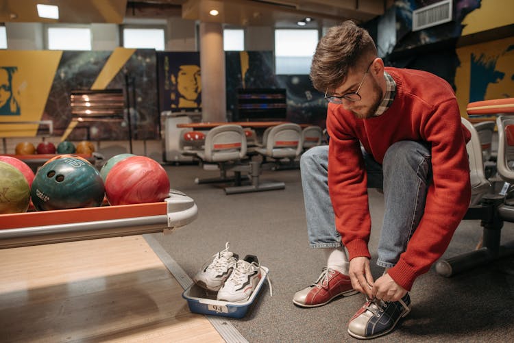
M260 264L255 255L239 259L229 249L230 242L226 242L225 249L212 255L193 281L201 288L218 292L219 301L244 303L252 296L262 278Z

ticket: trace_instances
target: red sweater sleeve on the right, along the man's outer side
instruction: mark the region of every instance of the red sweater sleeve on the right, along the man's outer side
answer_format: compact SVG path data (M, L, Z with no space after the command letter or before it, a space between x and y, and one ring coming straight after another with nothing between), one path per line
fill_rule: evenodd
M427 272L447 249L471 197L465 132L455 99L439 103L421 123L431 144L432 180L424 215L407 249L388 274L411 290L415 278Z

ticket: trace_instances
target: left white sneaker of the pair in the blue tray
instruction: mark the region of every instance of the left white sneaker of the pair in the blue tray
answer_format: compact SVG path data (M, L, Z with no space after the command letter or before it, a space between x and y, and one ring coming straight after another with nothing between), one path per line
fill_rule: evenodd
M216 292L221 288L226 279L234 270L238 255L228 251L230 242L225 243L225 249L219 253L212 255L212 259L208 260L201 270L193 277L193 281L201 288Z

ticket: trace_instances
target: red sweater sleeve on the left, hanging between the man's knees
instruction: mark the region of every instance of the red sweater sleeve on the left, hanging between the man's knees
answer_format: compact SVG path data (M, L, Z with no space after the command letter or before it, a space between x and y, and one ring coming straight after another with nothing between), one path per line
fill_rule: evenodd
M335 225L350 259L371 258L367 247L371 231L367 196L367 175L360 143L340 123L329 105L327 129L330 135L328 190L334 207Z

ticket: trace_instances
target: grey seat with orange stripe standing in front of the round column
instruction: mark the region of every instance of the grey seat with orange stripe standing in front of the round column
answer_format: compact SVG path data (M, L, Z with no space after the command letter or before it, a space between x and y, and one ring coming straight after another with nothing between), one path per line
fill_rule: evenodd
M195 183L215 183L240 181L240 173L228 177L227 172L246 157L246 137L240 125L220 125L210 129L204 142L204 149L196 151L196 156L206 170L219 170L220 176L209 179L195 179Z

